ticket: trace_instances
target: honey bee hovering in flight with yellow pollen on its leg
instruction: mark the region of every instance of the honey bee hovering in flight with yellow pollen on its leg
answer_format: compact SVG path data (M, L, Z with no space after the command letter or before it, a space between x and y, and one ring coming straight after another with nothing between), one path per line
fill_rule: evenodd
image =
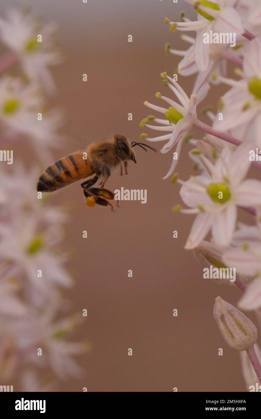
M110 200L114 199L114 193L103 186L111 176L111 169L120 166L120 176L123 175L123 165L125 175L127 175L128 160L137 163L133 147L139 145L145 151L150 147L142 142L129 142L123 135L112 135L111 139L90 144L85 152L76 151L49 166L40 176L37 185L37 191L52 192L70 185L80 179L85 179L81 186L85 195L85 204L87 207L93 207L95 204L110 206L113 205ZM101 181L101 187L93 187L98 181ZM117 202L118 203L118 202Z

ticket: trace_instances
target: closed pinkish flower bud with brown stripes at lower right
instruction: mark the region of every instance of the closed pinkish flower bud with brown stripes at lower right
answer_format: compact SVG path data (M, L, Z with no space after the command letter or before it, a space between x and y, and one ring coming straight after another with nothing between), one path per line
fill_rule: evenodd
M223 338L231 348L245 351L256 343L256 326L221 297L216 298L213 314Z

